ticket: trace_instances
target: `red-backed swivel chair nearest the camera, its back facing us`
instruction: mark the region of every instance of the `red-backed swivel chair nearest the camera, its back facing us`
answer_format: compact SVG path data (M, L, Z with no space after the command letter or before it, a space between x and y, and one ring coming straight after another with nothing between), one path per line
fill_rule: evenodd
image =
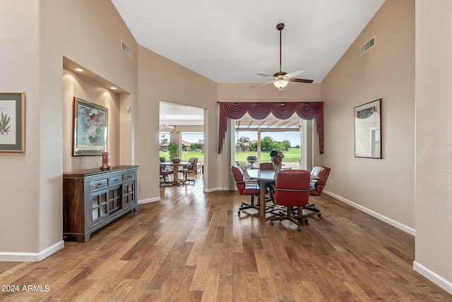
M311 176L309 171L291 169L281 170L275 176L275 184L270 185L270 195L277 205L285 207L285 212L270 217L270 225L275 220L290 220L297 224L297 231L301 231L301 222L307 223L307 215L295 215L292 207L304 207L309 203L309 183ZM300 209L299 212L302 212Z

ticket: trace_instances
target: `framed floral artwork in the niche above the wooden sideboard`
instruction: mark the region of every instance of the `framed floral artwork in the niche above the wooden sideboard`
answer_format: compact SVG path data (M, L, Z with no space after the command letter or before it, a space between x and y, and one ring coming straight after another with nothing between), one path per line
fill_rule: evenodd
M73 156L107 150L108 109L73 97Z

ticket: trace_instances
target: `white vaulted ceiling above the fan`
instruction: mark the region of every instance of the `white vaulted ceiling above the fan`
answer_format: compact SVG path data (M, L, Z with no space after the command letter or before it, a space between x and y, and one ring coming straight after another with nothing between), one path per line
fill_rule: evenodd
M217 83L282 70L321 83L384 0L112 0L138 44ZM369 37L370 39L371 37ZM357 50L358 52L359 50Z

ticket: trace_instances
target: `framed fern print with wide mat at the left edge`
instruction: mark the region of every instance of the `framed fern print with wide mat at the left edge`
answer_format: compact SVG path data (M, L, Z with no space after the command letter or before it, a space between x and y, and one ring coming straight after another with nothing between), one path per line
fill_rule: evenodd
M25 152L25 92L0 92L0 152Z

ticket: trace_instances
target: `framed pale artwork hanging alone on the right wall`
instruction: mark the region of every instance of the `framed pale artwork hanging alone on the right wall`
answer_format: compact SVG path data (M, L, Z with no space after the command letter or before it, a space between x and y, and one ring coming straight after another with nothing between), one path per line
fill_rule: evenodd
M355 107L355 157L381 159L381 99Z

